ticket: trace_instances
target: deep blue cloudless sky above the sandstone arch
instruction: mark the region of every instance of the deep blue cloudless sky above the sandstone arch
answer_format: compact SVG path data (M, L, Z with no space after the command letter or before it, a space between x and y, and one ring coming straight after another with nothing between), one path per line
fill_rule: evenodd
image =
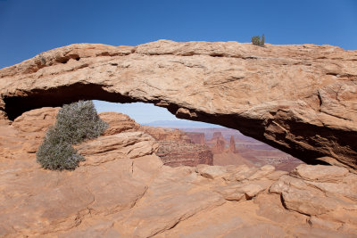
M357 1L0 0L0 32L0 69L73 43L139 45L162 38L250 42L264 33L274 45L357 50ZM170 117L149 105L137 111L144 109Z

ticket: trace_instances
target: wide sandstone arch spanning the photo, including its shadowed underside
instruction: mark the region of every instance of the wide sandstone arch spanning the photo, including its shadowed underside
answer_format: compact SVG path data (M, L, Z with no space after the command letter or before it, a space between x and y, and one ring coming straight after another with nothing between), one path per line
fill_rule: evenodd
M79 44L0 70L0 111L15 119L79 99L154 103L307 163L356 169L356 80L357 52L331 45Z

